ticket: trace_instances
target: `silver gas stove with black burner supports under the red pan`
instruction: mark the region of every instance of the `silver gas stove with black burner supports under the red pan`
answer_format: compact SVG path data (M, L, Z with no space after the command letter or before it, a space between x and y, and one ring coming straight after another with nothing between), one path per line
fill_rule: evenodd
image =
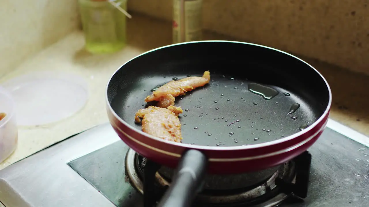
M367 146L369 137L329 120L308 152L283 165L207 175L193 206L367 206ZM6 207L148 207L172 175L173 169L130 149L106 123L1 170L0 201Z

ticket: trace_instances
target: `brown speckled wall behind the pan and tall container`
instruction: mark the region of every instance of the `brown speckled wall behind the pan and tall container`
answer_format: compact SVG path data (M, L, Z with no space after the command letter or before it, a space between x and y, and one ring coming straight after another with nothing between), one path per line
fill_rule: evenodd
M128 8L172 20L172 0ZM204 0L203 27L369 74L369 0Z

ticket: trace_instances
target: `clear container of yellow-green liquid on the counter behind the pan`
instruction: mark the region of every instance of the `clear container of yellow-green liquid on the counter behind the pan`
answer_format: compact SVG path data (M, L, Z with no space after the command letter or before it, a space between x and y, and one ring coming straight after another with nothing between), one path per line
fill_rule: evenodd
M127 0L116 0L127 10ZM112 53L126 44L126 16L107 1L79 0L86 50Z

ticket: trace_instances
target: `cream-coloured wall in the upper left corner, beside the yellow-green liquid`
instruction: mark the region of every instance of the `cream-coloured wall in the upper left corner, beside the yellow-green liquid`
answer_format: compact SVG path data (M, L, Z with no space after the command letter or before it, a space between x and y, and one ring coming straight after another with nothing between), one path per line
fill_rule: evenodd
M78 27L77 0L0 1L0 77Z

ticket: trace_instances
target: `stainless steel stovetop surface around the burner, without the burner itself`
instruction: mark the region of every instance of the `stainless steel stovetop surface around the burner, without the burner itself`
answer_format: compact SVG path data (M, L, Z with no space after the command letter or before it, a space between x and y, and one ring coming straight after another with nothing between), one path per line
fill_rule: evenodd
M308 196L303 201L289 196L280 206L368 206L367 146L369 137L329 120L309 148ZM1 170L0 201L6 207L142 207L142 183L138 176L126 175L132 169L127 168L131 159L128 164L125 159L134 156L110 124L102 124ZM287 195L255 206L273 206Z

